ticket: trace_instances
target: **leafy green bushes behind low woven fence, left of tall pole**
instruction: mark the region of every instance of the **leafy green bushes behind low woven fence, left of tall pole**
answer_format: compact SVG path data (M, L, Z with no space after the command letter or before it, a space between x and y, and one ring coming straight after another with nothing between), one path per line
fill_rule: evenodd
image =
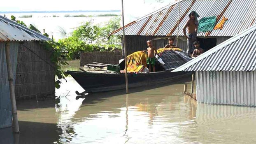
M120 28L120 18L111 19L103 27L94 25L92 21L84 23L73 31L70 37L59 39L62 51L67 60L79 58L79 52L113 51L121 49L121 37L107 37L109 33Z

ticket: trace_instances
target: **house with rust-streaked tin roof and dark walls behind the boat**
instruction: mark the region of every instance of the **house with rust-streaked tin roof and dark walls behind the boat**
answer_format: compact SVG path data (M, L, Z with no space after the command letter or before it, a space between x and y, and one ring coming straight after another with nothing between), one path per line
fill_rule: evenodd
M200 41L200 46L205 51L256 23L255 0L181 0L180 14L179 2L176 1L124 26L127 54L145 50L146 41L149 39L154 40L153 44L157 48L162 48L168 44L167 38L176 37L177 33L179 48L186 50L187 42L183 34L183 27L189 19L191 11L200 15L198 21L202 18L215 17L214 28L217 28L217 24L221 25L224 22L223 27L219 27L220 29L197 34L197 40ZM122 28L109 35L123 35Z

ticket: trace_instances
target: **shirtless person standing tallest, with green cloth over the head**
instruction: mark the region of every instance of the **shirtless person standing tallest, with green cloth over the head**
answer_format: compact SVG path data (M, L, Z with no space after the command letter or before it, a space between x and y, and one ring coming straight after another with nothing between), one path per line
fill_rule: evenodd
M193 42L196 41L196 34L198 30L198 17L199 15L195 11L192 11L189 14L189 20L187 21L186 25L183 28L184 36L187 38L188 41L187 53L189 56L191 56L191 53L195 49ZM186 28L188 28L189 35L186 35Z

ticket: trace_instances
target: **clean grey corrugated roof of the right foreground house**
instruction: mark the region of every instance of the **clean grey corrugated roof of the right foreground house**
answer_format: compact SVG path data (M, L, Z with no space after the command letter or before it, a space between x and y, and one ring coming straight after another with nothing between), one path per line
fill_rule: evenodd
M215 46L175 71L256 70L256 25Z

